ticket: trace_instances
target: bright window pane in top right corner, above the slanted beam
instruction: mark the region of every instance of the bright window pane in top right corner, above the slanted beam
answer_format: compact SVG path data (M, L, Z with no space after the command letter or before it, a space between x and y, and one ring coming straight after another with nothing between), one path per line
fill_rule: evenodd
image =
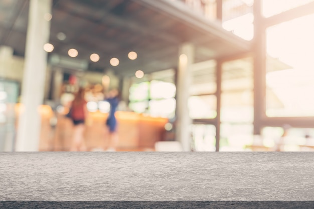
M270 17L312 1L313 0L263 0L262 13L265 17Z

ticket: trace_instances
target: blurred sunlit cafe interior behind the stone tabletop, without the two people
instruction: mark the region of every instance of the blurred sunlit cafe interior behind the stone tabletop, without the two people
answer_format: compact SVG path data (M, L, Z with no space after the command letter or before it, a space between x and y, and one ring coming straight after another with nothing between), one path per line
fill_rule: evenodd
M313 151L312 0L2 0L0 151Z

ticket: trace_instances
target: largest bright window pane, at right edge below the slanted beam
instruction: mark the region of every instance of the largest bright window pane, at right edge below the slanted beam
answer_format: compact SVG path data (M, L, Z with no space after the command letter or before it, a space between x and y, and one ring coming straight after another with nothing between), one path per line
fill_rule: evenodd
M266 31L268 117L314 116L313 22L314 14Z

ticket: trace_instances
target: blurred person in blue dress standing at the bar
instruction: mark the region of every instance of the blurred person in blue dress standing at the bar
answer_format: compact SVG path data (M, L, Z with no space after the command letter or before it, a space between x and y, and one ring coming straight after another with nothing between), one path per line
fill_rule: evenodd
M116 132L117 120L114 115L119 105L118 96L119 96L118 89L110 90L105 96L105 100L110 103L110 111L109 111L109 115L106 121L106 126L109 132L109 137L107 141L107 144L108 144L107 151L116 151L116 147L118 145L119 139Z

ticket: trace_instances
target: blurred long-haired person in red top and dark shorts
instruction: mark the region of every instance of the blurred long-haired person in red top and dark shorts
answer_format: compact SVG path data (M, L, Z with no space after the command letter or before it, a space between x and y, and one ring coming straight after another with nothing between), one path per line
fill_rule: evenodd
M85 119L88 114L84 99L84 89L80 88L76 93L71 106L70 117L73 121L73 140L70 151L86 151L83 133L85 130Z

